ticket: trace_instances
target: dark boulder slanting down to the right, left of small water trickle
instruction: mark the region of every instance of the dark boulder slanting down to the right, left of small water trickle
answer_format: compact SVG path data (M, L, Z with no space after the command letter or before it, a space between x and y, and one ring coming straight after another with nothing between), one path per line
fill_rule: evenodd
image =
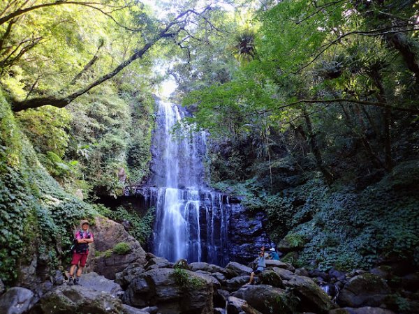
M299 310L302 312L327 313L335 307L328 294L308 277L294 276L286 286L291 287L295 297L300 299Z

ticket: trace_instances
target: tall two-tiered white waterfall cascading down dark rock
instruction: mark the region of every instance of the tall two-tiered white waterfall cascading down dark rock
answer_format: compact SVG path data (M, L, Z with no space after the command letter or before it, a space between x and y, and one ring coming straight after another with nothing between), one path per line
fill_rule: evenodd
M189 132L183 107L158 103L152 174L141 188L145 207L156 209L150 251L170 262L225 265L230 204L205 184L205 132Z

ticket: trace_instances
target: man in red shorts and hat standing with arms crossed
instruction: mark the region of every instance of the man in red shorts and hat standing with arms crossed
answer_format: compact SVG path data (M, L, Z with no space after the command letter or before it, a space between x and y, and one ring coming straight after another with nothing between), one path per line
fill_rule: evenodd
M89 232L89 223L82 223L82 230L75 234L75 247L73 249L73 260L71 260L70 279L68 285L78 285L79 278L82 276L84 266L86 266L87 255L89 255L89 243L94 241L93 234ZM77 277L74 278L75 267L77 269Z

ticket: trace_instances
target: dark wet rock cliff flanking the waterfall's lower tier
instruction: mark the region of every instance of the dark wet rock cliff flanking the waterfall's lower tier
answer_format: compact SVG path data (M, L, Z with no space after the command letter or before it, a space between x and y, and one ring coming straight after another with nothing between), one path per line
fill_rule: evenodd
M135 204L136 210L145 212L159 201L157 188L154 191L152 189L126 188L124 197ZM208 190L200 190L196 200L200 202L200 262L221 266L229 261L247 264L254 260L261 246L270 245L265 231L264 214L249 213L239 199ZM151 248L153 245L149 244ZM197 262L194 259L188 261Z

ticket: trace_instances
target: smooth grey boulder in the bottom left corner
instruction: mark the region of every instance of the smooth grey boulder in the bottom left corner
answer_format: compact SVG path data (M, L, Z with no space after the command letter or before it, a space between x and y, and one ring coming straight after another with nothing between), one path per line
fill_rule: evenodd
M21 314L29 309L34 292L24 287L11 287L0 297L1 314Z

